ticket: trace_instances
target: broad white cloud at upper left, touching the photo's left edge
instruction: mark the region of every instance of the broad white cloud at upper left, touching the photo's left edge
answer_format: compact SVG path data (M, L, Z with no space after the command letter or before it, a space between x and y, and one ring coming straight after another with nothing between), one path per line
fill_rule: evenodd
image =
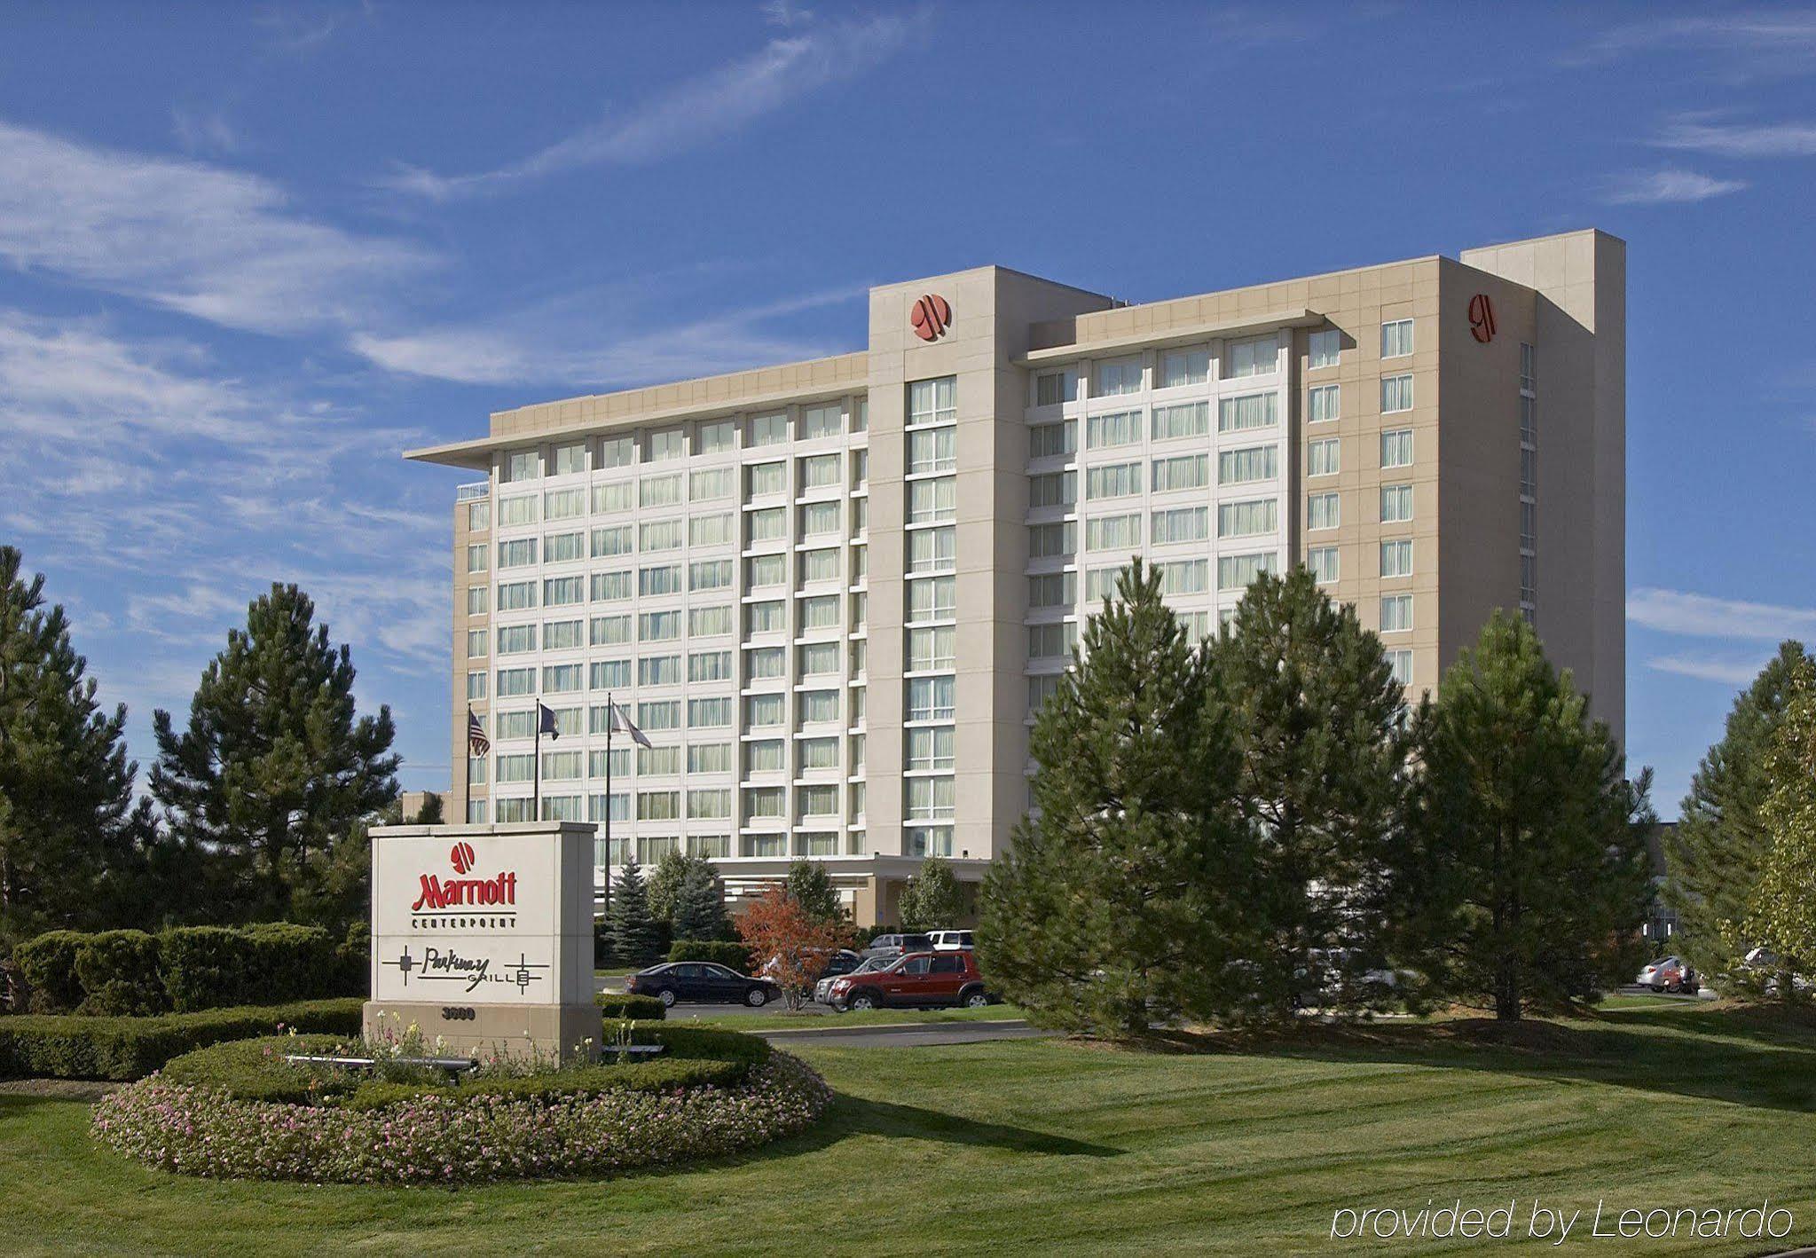
M0 258L232 329L361 323L436 258L294 212L276 183L0 122Z

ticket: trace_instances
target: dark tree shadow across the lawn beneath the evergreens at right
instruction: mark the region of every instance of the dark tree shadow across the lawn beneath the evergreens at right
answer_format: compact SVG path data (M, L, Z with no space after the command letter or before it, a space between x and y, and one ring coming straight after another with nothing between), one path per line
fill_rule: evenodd
M1571 1022L1324 1024L1268 1037L1162 1031L1155 1040L1175 1053L1473 1069L1816 1113L1816 1037L1745 1009L1620 1009Z

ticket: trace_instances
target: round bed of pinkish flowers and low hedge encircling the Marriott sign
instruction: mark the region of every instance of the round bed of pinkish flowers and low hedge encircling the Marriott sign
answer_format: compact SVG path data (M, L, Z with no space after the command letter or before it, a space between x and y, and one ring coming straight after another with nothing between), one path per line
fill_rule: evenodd
M674 1033L637 1031L643 1042ZM311 1075L269 1049L265 1040L178 1058L102 1100L93 1135L180 1174L459 1184L723 1156L808 1127L830 1100L808 1066L735 1033L677 1037L665 1060L458 1086ZM287 1089L287 1076L305 1084Z

